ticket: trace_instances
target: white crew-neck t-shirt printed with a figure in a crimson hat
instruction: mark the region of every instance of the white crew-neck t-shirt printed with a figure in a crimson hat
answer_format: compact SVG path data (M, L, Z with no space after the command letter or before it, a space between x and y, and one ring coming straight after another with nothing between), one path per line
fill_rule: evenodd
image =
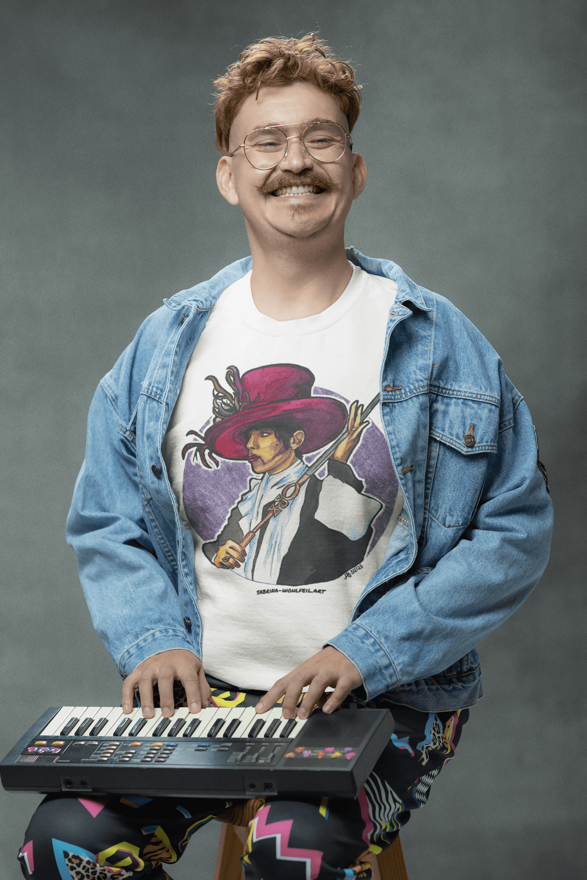
M395 282L356 266L318 315L209 313L162 446L194 537L204 670L263 690L347 627L403 498L379 414Z

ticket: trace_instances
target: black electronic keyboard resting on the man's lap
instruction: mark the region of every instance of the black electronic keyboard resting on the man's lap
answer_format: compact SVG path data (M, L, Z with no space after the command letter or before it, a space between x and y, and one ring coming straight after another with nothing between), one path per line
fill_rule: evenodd
M144 719L140 708L64 706L40 716L0 763L7 791L144 796L356 797L393 733L388 709L187 708Z

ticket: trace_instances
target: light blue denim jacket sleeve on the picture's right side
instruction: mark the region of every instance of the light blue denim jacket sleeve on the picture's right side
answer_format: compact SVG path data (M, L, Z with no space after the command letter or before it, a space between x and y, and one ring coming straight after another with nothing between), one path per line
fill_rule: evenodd
M369 697L443 671L516 611L547 566L553 507L524 401L489 456L481 502L451 551L408 573L330 644Z

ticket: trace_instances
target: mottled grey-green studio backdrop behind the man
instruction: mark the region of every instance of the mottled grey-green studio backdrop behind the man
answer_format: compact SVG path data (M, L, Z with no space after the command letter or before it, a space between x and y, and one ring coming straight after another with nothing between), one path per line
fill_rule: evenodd
M318 30L364 85L369 180L347 241L497 348L557 516L542 583L481 644L486 696L457 759L402 833L410 880L584 876L584 4L3 0L0 14L3 753L50 705L119 699L64 539L87 409L163 297L248 253L216 191L211 80L252 40ZM39 800L2 794L6 880ZM174 880L211 877L212 825Z

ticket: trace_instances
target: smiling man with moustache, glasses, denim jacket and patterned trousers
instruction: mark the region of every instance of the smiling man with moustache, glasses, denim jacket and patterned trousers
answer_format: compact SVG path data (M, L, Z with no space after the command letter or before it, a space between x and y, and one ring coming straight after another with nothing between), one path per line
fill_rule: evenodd
M162 880L211 818L250 824L247 878L371 876L454 757L475 646L547 564L546 474L499 357L345 250L367 179L352 68L272 38L216 87L217 185L252 257L165 300L101 381L68 538L125 714L136 690L147 719L221 693L260 719L371 700L395 730L355 801L48 796L25 876Z

